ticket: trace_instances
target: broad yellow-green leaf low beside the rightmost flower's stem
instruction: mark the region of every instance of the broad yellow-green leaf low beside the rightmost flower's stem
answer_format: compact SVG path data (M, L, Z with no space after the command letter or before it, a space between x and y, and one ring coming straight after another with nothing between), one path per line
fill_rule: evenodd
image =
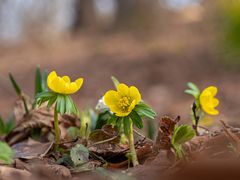
M195 131L189 125L180 125L174 128L171 143L173 146L181 145L195 136Z

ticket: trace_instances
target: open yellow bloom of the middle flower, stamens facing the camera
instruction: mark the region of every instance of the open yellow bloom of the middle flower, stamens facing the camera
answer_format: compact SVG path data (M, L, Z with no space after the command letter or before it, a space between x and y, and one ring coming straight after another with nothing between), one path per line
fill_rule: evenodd
M141 94L138 89L135 86L128 87L125 84L119 84L117 91L109 90L104 95L106 105L119 117L129 115L140 100Z

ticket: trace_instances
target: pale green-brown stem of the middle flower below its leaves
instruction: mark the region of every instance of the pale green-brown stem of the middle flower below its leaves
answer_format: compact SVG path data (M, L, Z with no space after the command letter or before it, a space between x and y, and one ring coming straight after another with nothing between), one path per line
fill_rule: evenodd
M133 137L133 122L131 119L129 119L130 121L130 129L129 129L129 135L128 135L128 141L129 141L129 149L130 149L130 154L131 154L131 160L133 163L133 166L137 166L139 165L138 163L138 159L137 159L137 153L136 153L136 149L134 146L134 137Z

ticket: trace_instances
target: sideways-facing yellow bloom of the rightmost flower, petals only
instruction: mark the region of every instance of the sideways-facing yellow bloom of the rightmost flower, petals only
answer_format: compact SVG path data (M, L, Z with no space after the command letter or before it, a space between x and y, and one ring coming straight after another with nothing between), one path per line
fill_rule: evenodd
M214 96L217 94L217 87L209 86L202 91L199 97L201 108L209 115L218 115L219 112L215 108L219 101Z

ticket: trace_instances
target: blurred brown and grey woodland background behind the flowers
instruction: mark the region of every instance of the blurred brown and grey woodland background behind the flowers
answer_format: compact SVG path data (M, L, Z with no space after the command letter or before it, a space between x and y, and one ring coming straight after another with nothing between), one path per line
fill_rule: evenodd
M34 93L36 65L73 79L80 108L95 107L110 76L137 86L158 116L189 121L192 81L219 87L218 119L240 116L239 0L0 0L0 113Z

